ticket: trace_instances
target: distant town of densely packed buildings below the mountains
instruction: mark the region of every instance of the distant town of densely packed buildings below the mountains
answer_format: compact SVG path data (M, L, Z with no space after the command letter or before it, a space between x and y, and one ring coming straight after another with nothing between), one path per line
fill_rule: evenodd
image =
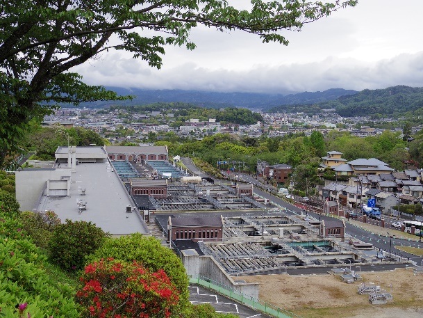
M163 114L160 111L151 111L139 114L129 114L122 109L60 109L54 115L46 116L42 126L48 127L60 123L65 127L84 127L92 129L108 138L111 143L122 141L149 141L149 134L156 134L154 141L160 140L169 132L179 137L190 137L201 140L204 136L213 134L235 134L258 138L265 134L269 137L285 136L288 134L303 133L310 136L313 131L322 132L326 135L333 129L340 132L349 132L358 137L376 136L385 129L375 128L376 123L395 122L392 118L380 118L370 120L368 117L344 118L335 113L334 109L327 109L324 113L308 116L304 113L260 113L263 122L254 125L237 125L231 122L217 122L215 118L201 121L191 118L179 126L175 126L174 113L168 111ZM359 125L358 125L359 123ZM359 126L359 127L358 127ZM123 132L127 134L122 136ZM412 127L414 134L422 129L421 126ZM401 132L401 128L392 128L392 132Z

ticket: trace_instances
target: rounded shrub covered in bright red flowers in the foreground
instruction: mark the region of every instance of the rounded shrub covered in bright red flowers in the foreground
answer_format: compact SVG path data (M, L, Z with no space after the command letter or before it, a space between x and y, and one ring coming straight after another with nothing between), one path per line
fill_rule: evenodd
M171 317L179 293L163 270L108 258L85 267L76 298L83 317Z

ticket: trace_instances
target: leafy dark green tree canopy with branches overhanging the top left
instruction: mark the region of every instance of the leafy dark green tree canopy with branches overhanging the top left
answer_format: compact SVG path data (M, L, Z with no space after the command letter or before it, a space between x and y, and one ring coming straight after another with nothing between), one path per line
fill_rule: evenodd
M31 118L40 120L57 102L116 100L101 86L88 86L69 72L110 50L124 50L152 67L165 45L190 42L199 24L239 29L263 42L288 45L277 31L299 30L357 1L251 1L250 11L224 0L22 0L3 1L0 15L0 166L19 151L17 140ZM43 103L44 102L44 103ZM51 103L46 103L51 102Z

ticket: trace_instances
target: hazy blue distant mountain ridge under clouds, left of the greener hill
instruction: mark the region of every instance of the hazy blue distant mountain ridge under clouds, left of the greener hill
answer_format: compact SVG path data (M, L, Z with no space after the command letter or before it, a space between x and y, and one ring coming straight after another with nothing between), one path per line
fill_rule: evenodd
M247 109L267 110L274 106L285 104L313 104L336 100L342 95L358 93L355 90L333 88L324 92L304 92L295 94L265 94L265 93L218 93L199 90L142 90L139 88L106 87L114 90L118 95L133 95L133 100L124 102L92 102L82 103L81 106L101 108L110 105L136 106L157 102L183 102L206 108L243 107ZM66 107L66 106L65 106Z

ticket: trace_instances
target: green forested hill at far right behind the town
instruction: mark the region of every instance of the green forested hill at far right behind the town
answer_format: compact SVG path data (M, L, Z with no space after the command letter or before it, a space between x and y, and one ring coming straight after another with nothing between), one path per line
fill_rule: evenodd
M345 95L337 100L295 106L281 105L269 112L304 111L317 113L321 109L335 109L340 116L392 116L413 112L423 107L423 88L392 86L379 90L362 90L355 95ZM419 111L419 112L420 112Z

